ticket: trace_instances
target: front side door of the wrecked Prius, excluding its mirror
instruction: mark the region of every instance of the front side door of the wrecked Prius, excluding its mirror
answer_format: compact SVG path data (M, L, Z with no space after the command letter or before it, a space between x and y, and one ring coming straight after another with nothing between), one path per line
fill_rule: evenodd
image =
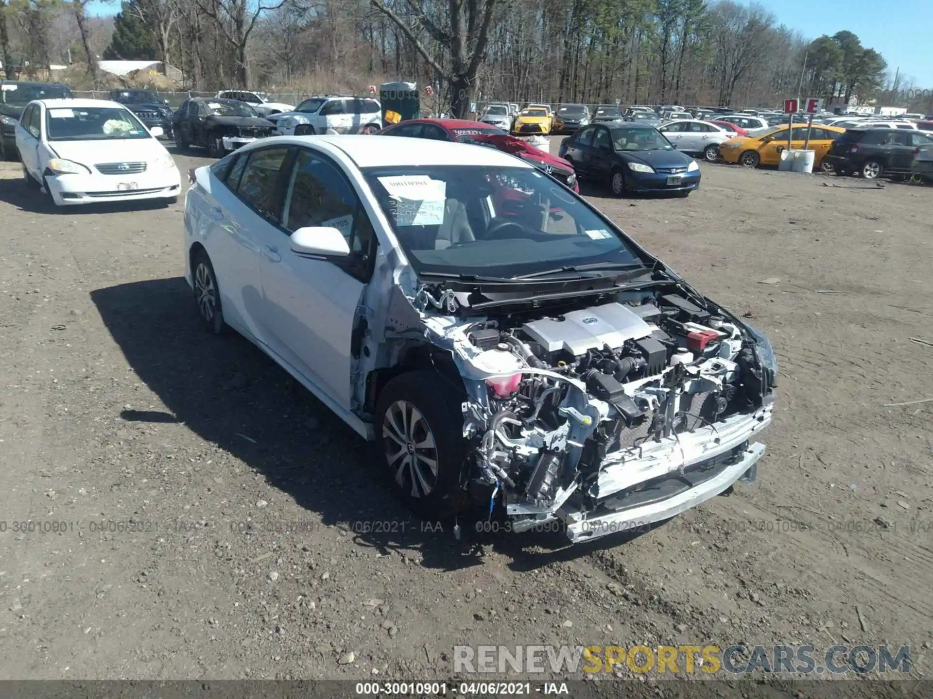
M350 255L310 259L289 247L306 226L341 231ZM285 185L279 226L264 226L264 322L270 347L345 410L351 401L354 326L375 258L375 234L341 167L300 148Z

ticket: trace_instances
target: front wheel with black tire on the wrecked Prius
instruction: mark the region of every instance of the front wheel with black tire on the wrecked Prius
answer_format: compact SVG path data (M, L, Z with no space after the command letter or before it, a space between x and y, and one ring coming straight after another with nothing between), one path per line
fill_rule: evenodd
M415 371L390 380L376 402L377 463L397 496L426 518L446 518L468 503L460 487L468 452L460 410L464 397L455 393L436 372ZM406 412L400 422L409 408L418 415Z

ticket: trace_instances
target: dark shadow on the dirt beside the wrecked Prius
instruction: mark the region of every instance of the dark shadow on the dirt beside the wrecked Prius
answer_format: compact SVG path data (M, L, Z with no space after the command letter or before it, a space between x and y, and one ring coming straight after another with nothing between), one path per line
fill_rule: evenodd
M169 411L126 410L121 418L185 423L324 524L348 528L357 543L384 553L417 551L425 567L447 570L480 565L493 547L514 569L530 570L641 533L569 546L560 531L511 534L483 513L461 516L456 541L453 522L425 523L411 514L376 469L371 446L264 353L233 332L207 334L184 279L120 284L91 292L91 299L133 371ZM372 522L397 526L366 524Z

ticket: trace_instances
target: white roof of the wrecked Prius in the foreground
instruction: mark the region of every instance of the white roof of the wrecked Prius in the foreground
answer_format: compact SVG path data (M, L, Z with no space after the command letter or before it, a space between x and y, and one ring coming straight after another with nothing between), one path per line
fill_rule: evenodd
M476 124L477 122L467 122ZM326 144L343 151L359 168L417 165L480 165L486 167L532 168L520 158L494 148L473 144L432 141L405 136L327 134L321 136L278 136L276 143Z

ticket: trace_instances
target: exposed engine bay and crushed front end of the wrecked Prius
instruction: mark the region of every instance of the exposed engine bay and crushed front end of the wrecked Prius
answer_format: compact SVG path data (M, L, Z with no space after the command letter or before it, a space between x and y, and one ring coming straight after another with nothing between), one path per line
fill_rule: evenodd
M416 307L455 307L420 295ZM423 316L466 386L464 487L491 489L512 530L560 520L578 541L753 480L764 445L749 437L771 420L775 379L750 329L680 287L588 300Z

